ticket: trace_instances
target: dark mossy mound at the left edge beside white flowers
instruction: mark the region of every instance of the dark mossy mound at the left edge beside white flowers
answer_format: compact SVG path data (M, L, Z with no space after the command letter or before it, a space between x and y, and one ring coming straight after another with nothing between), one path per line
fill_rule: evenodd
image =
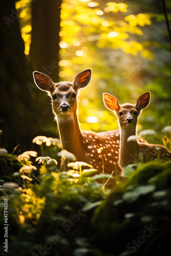
M18 172L22 167L22 163L18 162L17 157L13 155L0 155L0 179L11 181L11 175Z

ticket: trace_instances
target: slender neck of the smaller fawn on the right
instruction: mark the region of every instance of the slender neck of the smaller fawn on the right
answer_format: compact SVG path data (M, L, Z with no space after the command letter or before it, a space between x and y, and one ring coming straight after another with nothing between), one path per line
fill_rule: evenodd
M119 163L122 167L134 163L138 153L137 141L127 142L130 136L136 135L136 127L126 126L121 129Z

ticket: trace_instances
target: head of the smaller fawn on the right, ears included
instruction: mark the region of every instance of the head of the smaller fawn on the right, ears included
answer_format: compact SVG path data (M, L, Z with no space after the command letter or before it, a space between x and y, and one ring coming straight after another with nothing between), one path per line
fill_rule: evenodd
M138 116L149 104L150 93L146 92L139 96L135 105L129 103L119 105L117 98L108 93L103 93L103 101L106 108L115 111L121 129L130 126L136 127Z

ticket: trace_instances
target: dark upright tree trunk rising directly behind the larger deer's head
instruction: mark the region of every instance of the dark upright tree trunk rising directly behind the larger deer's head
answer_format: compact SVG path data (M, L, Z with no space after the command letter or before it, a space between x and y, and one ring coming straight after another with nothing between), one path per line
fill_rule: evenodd
M32 2L30 59L34 69L58 81L61 0Z

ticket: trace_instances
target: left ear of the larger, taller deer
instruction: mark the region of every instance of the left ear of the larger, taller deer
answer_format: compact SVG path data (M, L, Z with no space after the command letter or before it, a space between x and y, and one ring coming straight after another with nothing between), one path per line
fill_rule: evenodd
M36 86L42 91L51 92L53 89L53 83L49 76L42 74L38 71L33 72L33 78Z

